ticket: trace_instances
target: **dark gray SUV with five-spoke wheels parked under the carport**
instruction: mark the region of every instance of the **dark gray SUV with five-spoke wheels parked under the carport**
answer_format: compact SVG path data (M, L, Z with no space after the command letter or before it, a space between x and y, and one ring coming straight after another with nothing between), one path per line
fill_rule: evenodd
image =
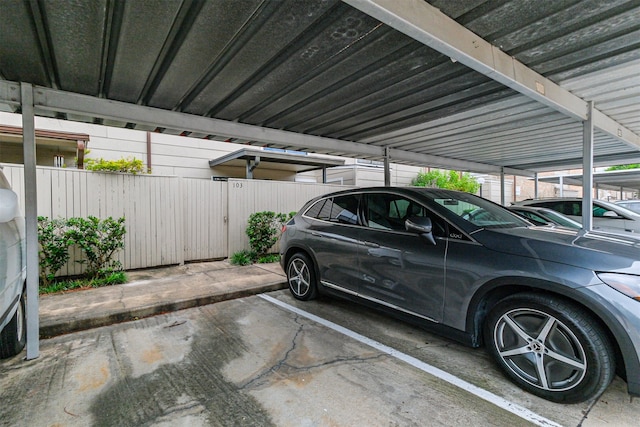
M522 388L595 399L618 373L640 395L640 238L533 226L456 191L362 188L286 225L293 297L374 306L473 347Z

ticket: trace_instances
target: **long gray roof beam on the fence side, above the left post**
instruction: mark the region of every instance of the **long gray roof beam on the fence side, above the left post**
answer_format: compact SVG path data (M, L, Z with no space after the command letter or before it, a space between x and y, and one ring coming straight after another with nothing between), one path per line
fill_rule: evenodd
M20 84L0 80L0 103L20 103ZM384 147L360 142L306 135L279 129L272 129L227 120L201 117L177 111L146 107L126 102L113 101L65 92L44 87L34 87L34 108L36 112L53 111L82 116L116 120L136 125L164 127L178 131L218 135L226 138L240 138L265 144L279 144L303 147L318 151L350 153L354 156L384 158ZM457 170L498 173L499 166L458 160L447 157L416 154L404 150L392 150L392 158L412 164L431 165ZM530 176L532 172L513 169L516 175Z

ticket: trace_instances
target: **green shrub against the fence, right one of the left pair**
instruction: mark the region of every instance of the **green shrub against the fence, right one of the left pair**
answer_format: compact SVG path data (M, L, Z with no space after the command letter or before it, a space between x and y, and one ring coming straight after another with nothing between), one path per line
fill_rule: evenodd
M100 220L94 216L88 218L70 218L67 221L68 235L72 243L83 252L90 278L105 277L114 271L122 270L120 261L113 259L116 252L124 248L124 217L117 220L109 217Z

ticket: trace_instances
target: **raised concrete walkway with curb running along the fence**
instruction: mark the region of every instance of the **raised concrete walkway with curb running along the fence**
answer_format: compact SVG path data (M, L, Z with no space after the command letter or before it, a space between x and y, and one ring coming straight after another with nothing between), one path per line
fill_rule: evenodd
M128 271L123 285L40 296L40 337L282 289L280 264L211 261Z

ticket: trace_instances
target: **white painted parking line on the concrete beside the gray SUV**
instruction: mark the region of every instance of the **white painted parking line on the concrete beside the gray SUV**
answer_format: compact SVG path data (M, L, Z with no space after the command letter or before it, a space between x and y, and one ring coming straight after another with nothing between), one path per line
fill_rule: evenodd
M320 323L323 326L326 326L327 328L333 329L336 332L340 332L341 334L344 334L350 338L355 339L356 341L359 341L363 344L366 344L370 347L375 348L376 350L382 352L382 353L386 353L390 356L393 356L405 363L408 363L409 365L420 369L423 372L427 372L437 378L440 378L446 382L448 382L449 384L452 384L456 387L459 387L465 391L468 391L469 393L472 393L478 397L480 397L481 399L486 400L487 402L490 402L506 411L509 411L531 423L534 423L536 425L539 426L558 426L560 427L560 424L551 421L541 415L536 414L535 412L531 412L530 410L528 410L527 408L524 408L520 405L517 405L513 402L509 402L506 399L503 399L500 396L497 396L487 390L484 390L480 387L477 387L471 383L466 382L465 380L456 377L455 375L451 375L448 372L443 371L442 369L436 368L435 366L431 366L428 363L422 362L421 360L416 359L413 356L409 356L406 353L403 353L401 351L398 351L392 347L389 347L387 345L384 345L378 341L372 340L371 338L367 338L364 335L360 335L357 332L354 332L350 329L344 328L336 323L333 323L329 320L323 319L322 317L318 317L314 314L308 313L304 310L300 310L297 307L294 307L292 305L289 305L287 303L284 303L280 300L277 300L273 297L270 297L268 295L265 294L260 294L258 295L260 298L269 301L272 304L275 304L281 308L284 308L285 310L289 310L293 313L296 313L302 317L306 317L309 320L312 320L314 322Z

